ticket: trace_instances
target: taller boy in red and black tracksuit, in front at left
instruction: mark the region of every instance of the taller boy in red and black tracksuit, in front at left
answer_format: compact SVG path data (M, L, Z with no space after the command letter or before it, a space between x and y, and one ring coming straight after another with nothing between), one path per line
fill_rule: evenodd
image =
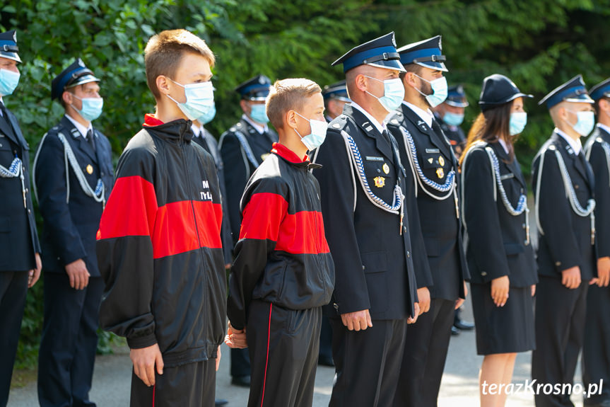
M100 323L127 337L131 406L213 406L226 313L221 193L191 120L213 104L214 59L186 30L153 36L145 55L157 110L125 147L102 214Z

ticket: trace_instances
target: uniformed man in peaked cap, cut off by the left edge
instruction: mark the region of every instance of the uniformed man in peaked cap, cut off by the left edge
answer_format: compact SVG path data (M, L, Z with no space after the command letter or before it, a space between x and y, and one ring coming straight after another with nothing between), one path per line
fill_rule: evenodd
M30 194L30 146L4 105L19 81L17 36L0 33L0 406L8 402L25 294L40 277Z

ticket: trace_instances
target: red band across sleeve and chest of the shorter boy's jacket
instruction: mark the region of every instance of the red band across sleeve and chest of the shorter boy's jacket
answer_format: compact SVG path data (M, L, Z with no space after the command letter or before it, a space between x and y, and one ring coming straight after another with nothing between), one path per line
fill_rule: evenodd
M276 242L276 250L288 253L329 253L322 213L287 211L281 195L252 195L243 211L240 239L269 239Z

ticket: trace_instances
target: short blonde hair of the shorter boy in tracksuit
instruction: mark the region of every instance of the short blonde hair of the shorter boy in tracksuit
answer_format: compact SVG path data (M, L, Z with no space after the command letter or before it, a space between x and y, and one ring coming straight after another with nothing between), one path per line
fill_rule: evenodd
M322 93L322 88L305 78L282 79L269 89L265 105L267 117L276 129L283 127L283 116L288 110L303 109L305 98Z

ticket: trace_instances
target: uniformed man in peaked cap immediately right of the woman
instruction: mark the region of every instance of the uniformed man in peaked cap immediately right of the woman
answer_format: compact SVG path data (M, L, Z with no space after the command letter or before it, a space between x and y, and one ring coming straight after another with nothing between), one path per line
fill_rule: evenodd
M594 175L580 142L595 124L593 100L578 75L539 104L546 104L555 130L532 164L539 236L532 379L571 385L585 333L587 290L597 276ZM541 392L534 400L536 407L574 406L570 394Z

